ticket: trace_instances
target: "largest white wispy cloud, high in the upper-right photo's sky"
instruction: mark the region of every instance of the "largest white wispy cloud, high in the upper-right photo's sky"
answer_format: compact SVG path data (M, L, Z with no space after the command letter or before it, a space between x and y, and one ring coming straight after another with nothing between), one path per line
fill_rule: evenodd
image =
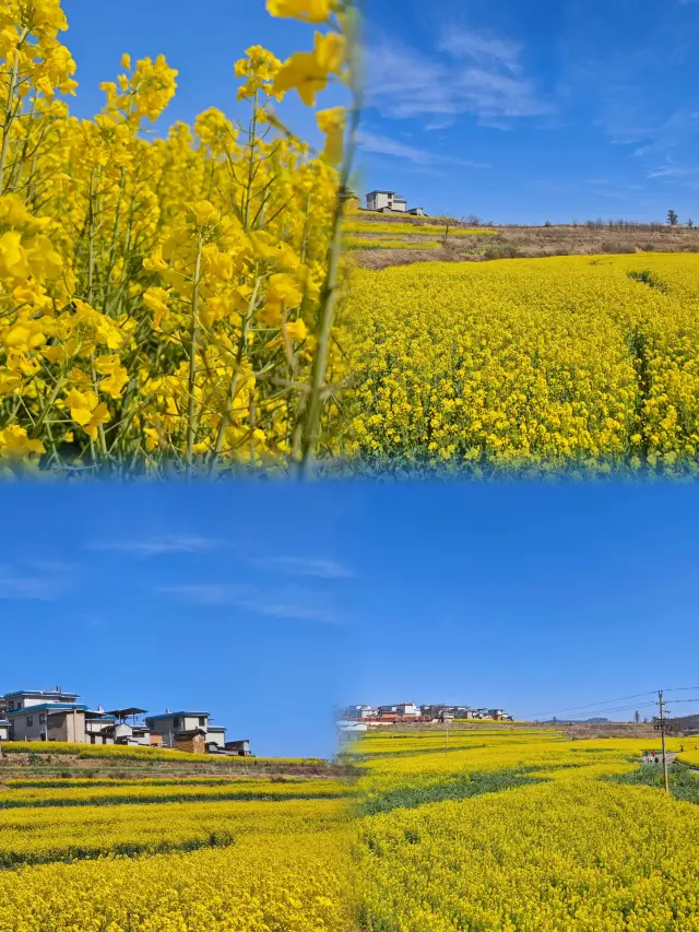
M519 43L453 24L431 56L380 39L367 50L368 103L390 118L474 114L498 127L548 114L553 104L523 74L521 51Z

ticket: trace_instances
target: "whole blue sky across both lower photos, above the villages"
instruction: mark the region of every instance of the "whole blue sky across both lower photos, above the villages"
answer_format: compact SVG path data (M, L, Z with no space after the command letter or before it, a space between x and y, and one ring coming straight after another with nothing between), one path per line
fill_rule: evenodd
M330 754L355 701L699 709L696 486L15 484L0 509L3 692L203 706L276 755Z

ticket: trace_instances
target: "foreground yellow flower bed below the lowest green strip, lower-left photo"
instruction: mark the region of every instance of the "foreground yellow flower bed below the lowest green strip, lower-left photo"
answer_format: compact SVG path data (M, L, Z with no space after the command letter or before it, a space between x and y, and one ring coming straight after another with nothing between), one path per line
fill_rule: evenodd
M351 932L331 833L0 872L0 932Z

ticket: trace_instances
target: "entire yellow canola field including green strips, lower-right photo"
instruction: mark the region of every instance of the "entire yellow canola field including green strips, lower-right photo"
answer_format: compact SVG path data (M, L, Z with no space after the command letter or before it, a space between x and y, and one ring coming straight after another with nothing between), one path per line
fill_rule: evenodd
M454 731L449 744L355 746L362 930L699 928L699 807L609 779L638 767L628 758L648 740L497 729Z

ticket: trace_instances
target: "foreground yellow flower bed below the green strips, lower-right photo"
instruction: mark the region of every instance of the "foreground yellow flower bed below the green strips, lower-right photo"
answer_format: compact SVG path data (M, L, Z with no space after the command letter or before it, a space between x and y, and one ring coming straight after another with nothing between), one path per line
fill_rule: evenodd
M699 809L657 790L556 782L364 819L365 928L694 932Z

